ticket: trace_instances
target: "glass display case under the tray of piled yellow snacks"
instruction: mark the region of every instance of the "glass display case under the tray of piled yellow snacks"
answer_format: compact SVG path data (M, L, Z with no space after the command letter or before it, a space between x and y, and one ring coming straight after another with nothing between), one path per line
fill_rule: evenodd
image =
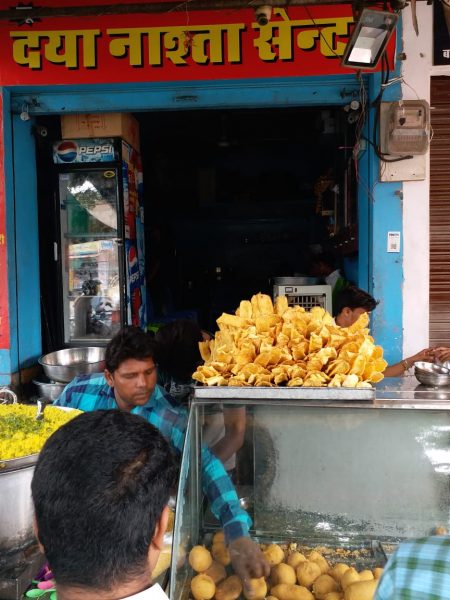
M240 408L232 477L251 536L326 548L329 562L382 567L403 539L450 524L450 399L377 399L375 390L199 387L181 464L170 598L190 598L188 554L220 524L201 490L201 447ZM238 411L239 412L239 411ZM214 436L213 436L214 437ZM216 442L214 442L216 443ZM230 567L227 567L227 571ZM231 573L231 571L230 571Z

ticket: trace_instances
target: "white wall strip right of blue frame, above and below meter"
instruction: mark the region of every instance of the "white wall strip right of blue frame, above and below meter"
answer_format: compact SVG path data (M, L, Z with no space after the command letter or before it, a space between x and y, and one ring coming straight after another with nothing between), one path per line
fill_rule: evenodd
M449 66L433 67L433 7L417 2L418 37L410 7L402 14L406 53L403 97L415 100L417 93L429 101L430 77L450 76ZM428 156L427 179L403 184L403 356L411 356L429 343L429 188Z

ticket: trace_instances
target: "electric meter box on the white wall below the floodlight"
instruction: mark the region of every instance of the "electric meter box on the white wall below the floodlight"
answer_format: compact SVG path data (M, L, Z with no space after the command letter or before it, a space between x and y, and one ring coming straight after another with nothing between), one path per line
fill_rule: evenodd
M391 102L387 115L387 154L425 154L430 135L430 107L426 100Z

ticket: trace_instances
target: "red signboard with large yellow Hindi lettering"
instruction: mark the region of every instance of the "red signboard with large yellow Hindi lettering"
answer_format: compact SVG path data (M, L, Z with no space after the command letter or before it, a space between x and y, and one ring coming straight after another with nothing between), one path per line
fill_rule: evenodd
M4 21L0 85L349 73L340 60L352 26L348 4L274 8L262 26L247 9Z

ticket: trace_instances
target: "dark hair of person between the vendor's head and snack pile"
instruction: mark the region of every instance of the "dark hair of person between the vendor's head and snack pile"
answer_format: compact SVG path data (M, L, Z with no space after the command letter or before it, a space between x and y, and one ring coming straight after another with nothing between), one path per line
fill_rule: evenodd
M178 319L161 327L155 340L160 369L178 381L190 381L202 362L198 347L203 340L200 325L191 319Z

